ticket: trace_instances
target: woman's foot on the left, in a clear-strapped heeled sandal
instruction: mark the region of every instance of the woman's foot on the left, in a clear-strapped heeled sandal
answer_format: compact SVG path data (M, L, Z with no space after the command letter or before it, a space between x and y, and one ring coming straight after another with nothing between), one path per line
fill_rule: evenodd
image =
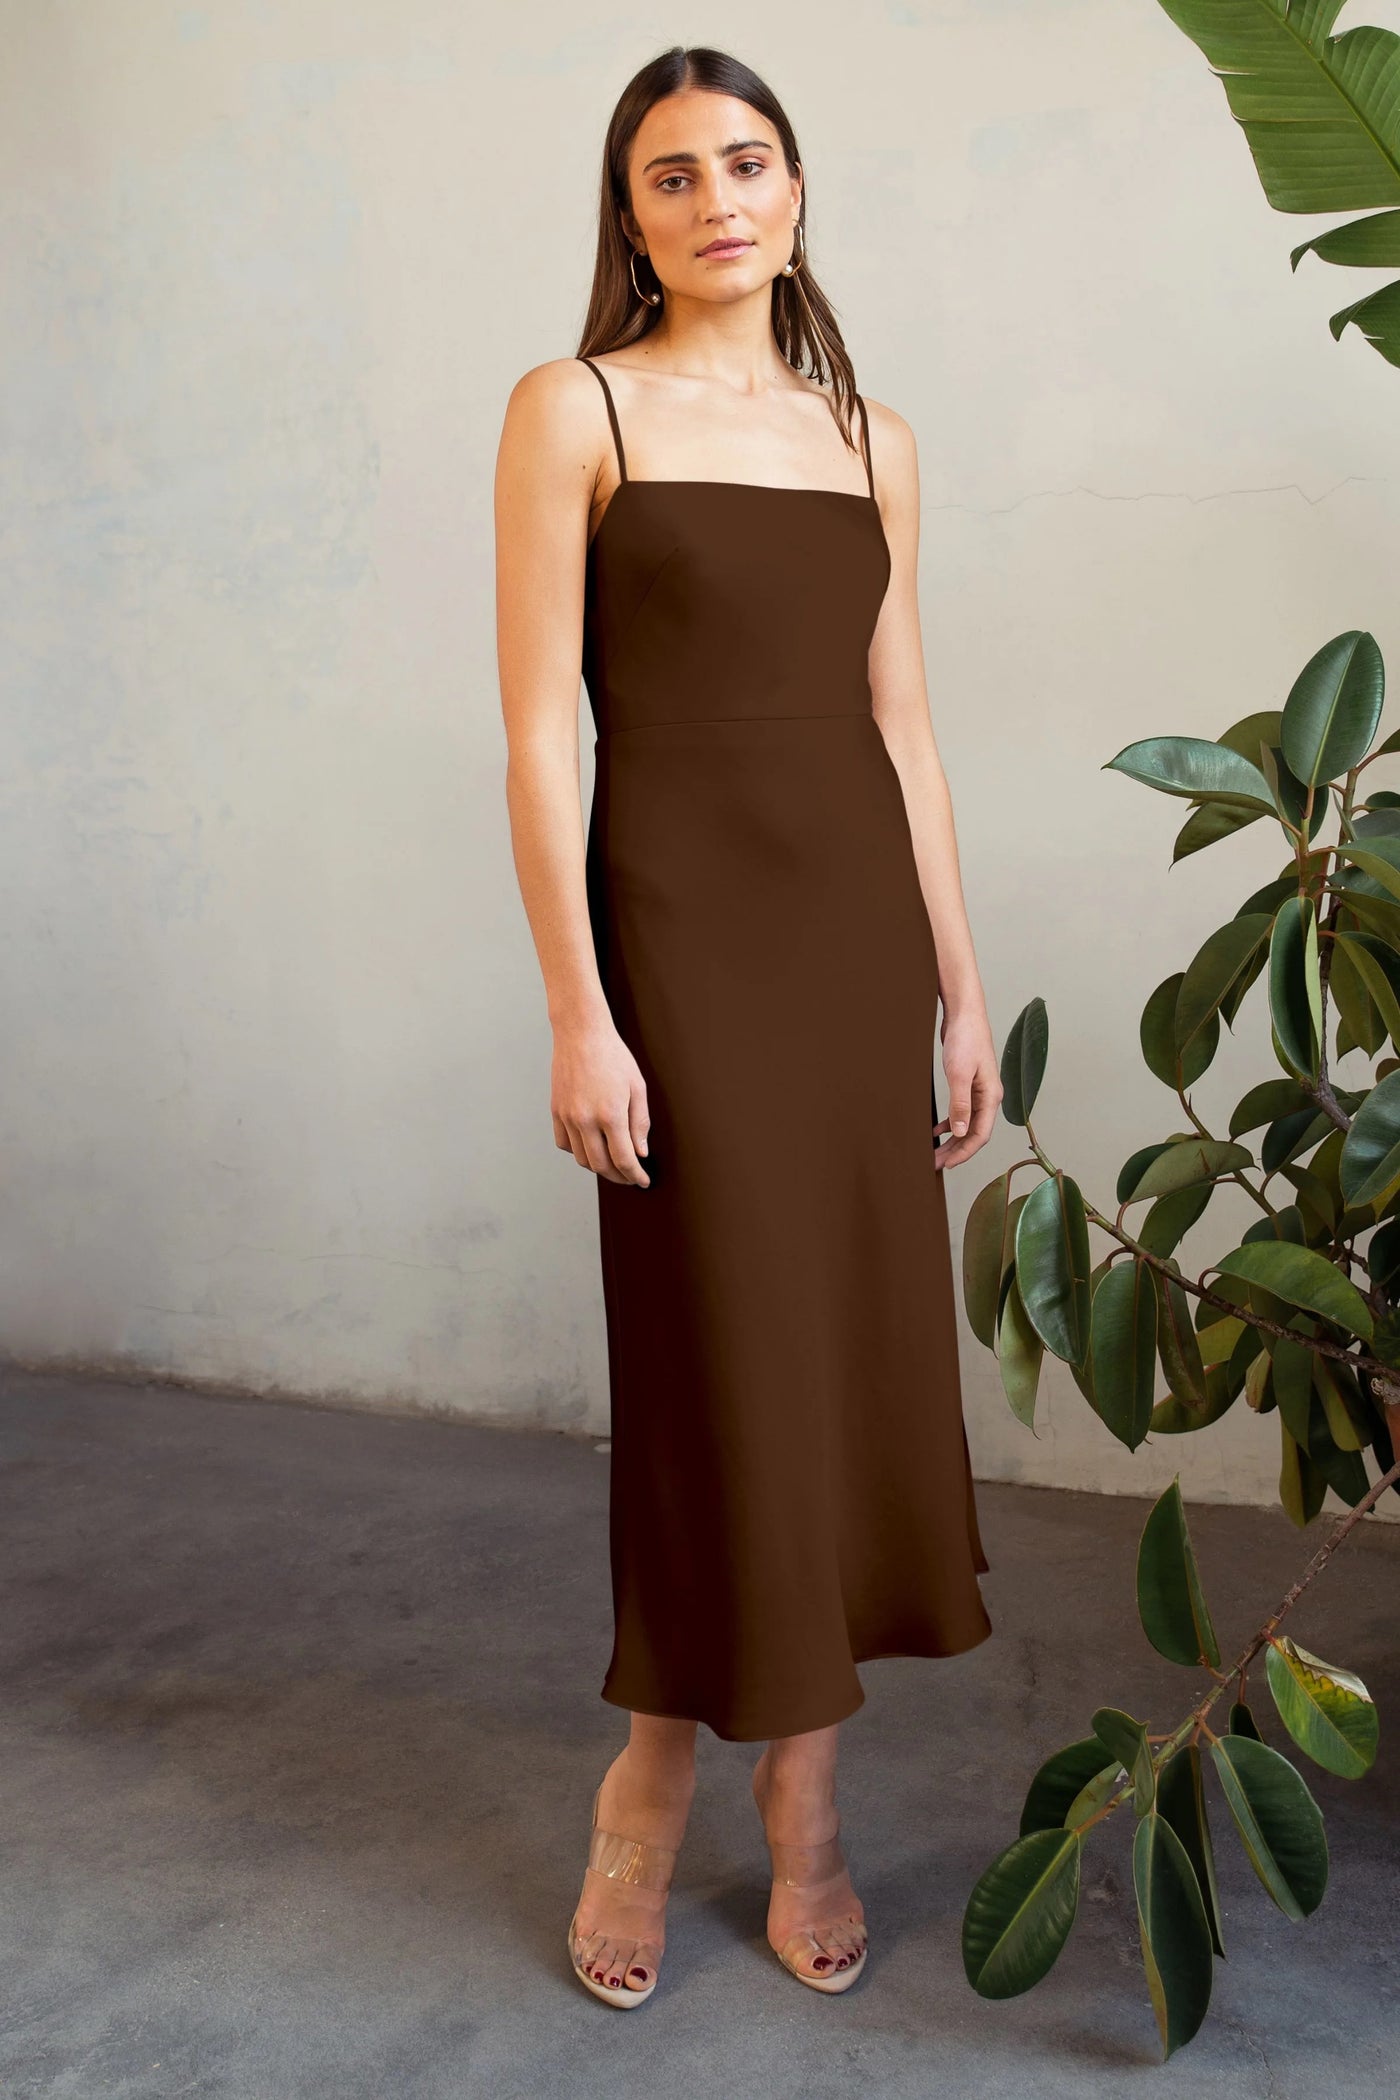
M678 1850L693 1793L695 1768L676 1779L655 1768L636 1772L623 1745L602 1777L598 1829ZM586 1867L573 1928L579 1968L613 1991L649 1991L665 1947L665 1898L663 1888L638 1888Z

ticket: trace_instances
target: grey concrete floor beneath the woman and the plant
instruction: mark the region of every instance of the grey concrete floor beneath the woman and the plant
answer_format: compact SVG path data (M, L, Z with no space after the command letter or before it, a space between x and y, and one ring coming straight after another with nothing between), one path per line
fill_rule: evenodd
M1327 1898L1301 1926L1272 1907L1211 1777L1228 1961L1163 2066L1127 1816L1045 1982L989 2003L959 1955L1039 1760L1100 1703L1165 1728L1201 1682L1136 1623L1148 1502L982 1485L993 1638L863 1667L842 1814L871 1961L844 1997L768 1951L758 1745L701 1730L661 1982L621 2014L565 1957L625 1728L598 1697L594 1443L15 1373L0 1434L6 2100L1394 2090L1396 1529L1354 1537L1289 1621L1381 1707L1366 1779L1306 1766ZM1190 1512L1228 1655L1329 1520Z

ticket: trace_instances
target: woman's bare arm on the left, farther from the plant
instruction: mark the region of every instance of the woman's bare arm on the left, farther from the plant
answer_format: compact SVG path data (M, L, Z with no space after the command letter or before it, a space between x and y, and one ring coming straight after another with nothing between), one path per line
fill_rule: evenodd
M646 1086L609 1012L584 876L584 561L607 443L602 391L575 359L516 384L495 462L495 632L510 844L554 1029L554 1142L649 1186Z

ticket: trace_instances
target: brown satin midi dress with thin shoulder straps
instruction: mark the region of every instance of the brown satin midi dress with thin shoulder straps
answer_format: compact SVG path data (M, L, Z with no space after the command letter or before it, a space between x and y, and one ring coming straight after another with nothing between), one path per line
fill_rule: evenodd
M869 496L621 483L588 548L588 909L651 1186L598 1176L602 1697L730 1741L991 1634L961 1413L938 964L867 655Z

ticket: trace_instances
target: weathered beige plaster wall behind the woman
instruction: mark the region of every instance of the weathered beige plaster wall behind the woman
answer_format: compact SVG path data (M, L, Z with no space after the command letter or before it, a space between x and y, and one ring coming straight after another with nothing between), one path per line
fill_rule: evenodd
M993 1025L1045 998L1037 1134L1110 1205L1178 1124L1142 1004L1278 853L1169 874L1182 806L1104 760L1280 704L1348 626L1400 670L1400 374L1324 326L1373 279L1291 275L1316 223L1268 210L1161 10L0 15L6 1348L607 1426L502 798L491 466L512 380L575 344L611 101L672 40L787 99L812 262L917 430ZM1219 1067L1207 1115L1272 1071L1259 993ZM1001 1128L955 1172L959 1239L1018 1153ZM1243 1407L1129 1457L1056 1365L1033 1438L963 1344L984 1476L1274 1497Z

